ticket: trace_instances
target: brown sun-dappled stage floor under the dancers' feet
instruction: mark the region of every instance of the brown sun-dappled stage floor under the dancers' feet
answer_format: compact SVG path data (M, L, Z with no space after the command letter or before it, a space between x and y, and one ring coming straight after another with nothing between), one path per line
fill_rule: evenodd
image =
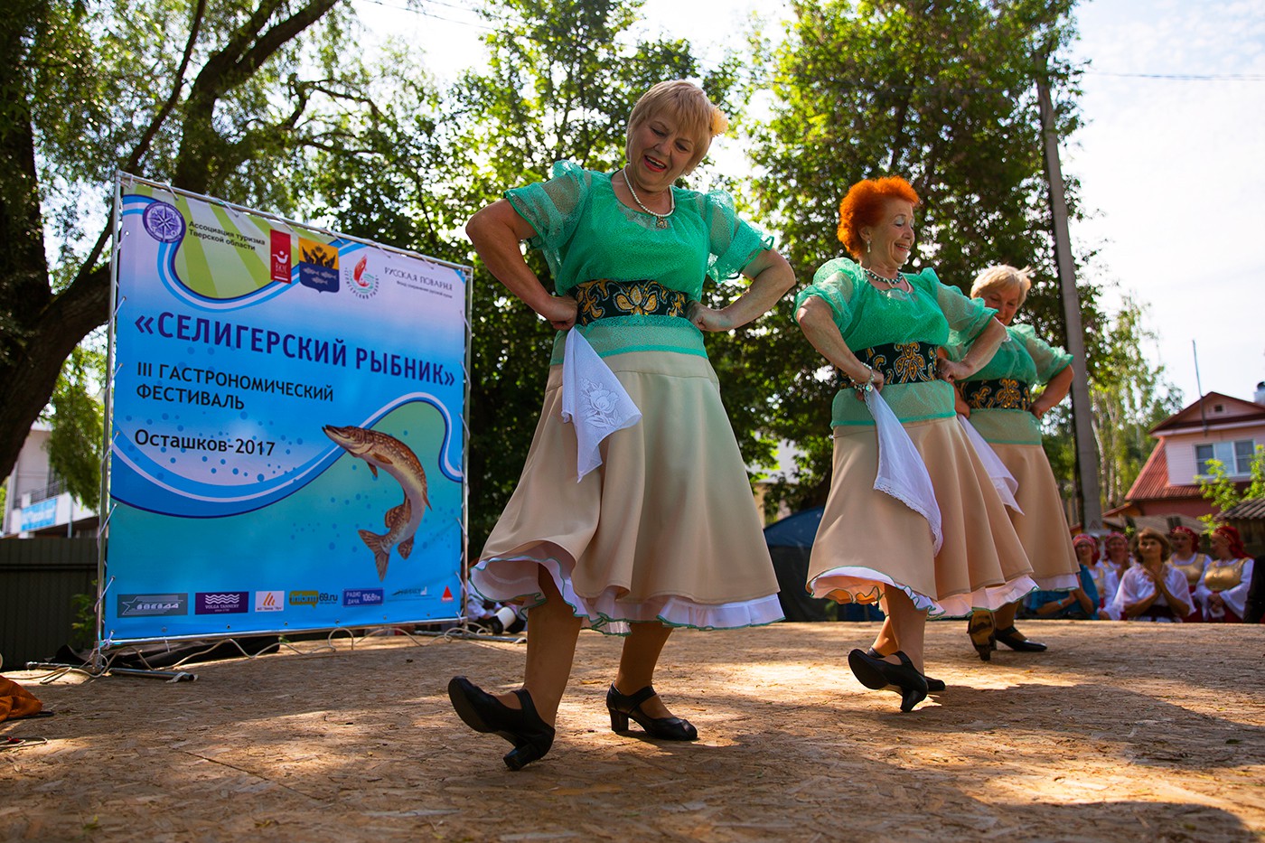
M509 772L445 684L515 685L522 646L335 639L196 682L6 671L57 715L0 724L4 840L1260 840L1265 627L1027 621L901 714L845 654L873 624L678 633L655 685L701 734L619 737L617 639L584 633L553 751ZM634 727L635 728L635 727Z

